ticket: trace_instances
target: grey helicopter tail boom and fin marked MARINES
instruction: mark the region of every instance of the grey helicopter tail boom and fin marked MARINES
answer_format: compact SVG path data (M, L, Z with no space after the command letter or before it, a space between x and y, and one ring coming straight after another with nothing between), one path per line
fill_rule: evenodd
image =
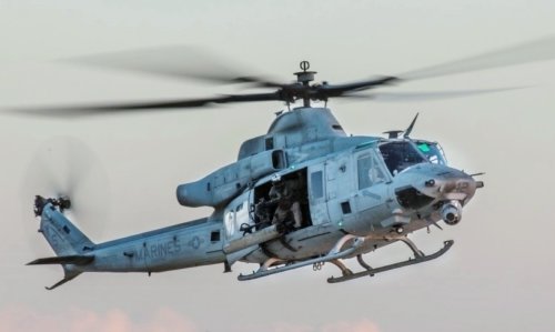
M57 256L28 265L60 264L64 278L54 289L83 272L163 272L224 263L222 222L202 218L104 243L93 243L56 203L41 210L40 232Z

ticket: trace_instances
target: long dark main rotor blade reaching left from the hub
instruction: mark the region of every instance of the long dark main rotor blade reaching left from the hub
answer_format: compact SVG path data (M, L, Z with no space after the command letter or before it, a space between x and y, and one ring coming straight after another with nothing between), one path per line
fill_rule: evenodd
M67 107L52 107L39 109L19 109L13 110L13 113L27 113L32 115L60 115L60 117L80 117L107 113L120 113L129 111L151 111L151 110L171 110L186 108L202 108L211 103L230 103L230 102L250 102L250 101L271 101L283 100L278 92L271 93L252 93L252 94L229 94L215 98L205 99L189 99L174 101L155 101L155 102L135 102L135 103L117 103L117 104L79 104Z

